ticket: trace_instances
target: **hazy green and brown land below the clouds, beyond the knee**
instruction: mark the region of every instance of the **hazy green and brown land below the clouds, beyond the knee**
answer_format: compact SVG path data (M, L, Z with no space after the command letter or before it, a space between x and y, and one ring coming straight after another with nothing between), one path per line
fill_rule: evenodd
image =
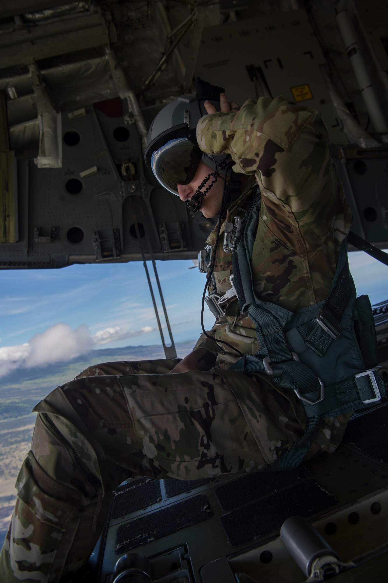
M178 357L191 352L195 342L175 345ZM163 359L163 346L126 346L93 350L77 359L44 368L20 368L0 380L0 546L15 504L15 480L30 449L34 405L52 389L75 378L92 364L121 360Z

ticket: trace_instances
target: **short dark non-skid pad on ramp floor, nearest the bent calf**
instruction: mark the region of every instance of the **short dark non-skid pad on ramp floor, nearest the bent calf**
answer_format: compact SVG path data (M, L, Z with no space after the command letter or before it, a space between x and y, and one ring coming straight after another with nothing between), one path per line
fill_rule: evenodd
M149 477L122 484L114 493L111 518L120 518L161 500L160 483Z

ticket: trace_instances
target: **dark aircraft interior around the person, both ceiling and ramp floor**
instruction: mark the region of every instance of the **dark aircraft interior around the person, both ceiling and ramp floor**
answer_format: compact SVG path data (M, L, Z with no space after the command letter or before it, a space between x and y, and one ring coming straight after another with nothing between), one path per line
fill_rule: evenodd
M196 260L216 219L191 217L144 166L154 116L196 76L240 104L319 109L352 231L383 249L387 71L378 0L2 0L0 268L151 259L176 356L155 261ZM383 364L388 301L373 315ZM376 401L295 470L128 480L82 581L385 581L387 414Z

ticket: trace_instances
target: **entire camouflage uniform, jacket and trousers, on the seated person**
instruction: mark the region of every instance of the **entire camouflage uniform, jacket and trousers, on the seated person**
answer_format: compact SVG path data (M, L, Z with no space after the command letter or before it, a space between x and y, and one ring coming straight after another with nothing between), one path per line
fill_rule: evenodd
M206 115L200 147L230 153L263 195L252 272L256 294L289 310L330 290L350 212L331 165L318 111L278 97L238 113ZM251 195L228 209L244 215ZM221 236L223 239L223 236ZM215 232L209 237L214 244ZM216 249L217 291L228 289L231 255ZM0 579L71 581L93 549L111 491L133 475L197 479L260 469L304 432L298 399L266 375L228 370L258 350L237 301L197 346L217 354L211 371L167 375L177 361L101 364L38 403L31 451L17 478L17 503L0 556ZM309 456L333 451L350 415L326 419Z

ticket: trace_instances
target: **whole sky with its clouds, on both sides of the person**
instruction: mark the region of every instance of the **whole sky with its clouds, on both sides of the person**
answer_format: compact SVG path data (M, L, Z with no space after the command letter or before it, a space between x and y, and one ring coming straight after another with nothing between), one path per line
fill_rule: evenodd
M364 252L349 255L358 295L388 299L388 267ZM199 338L205 276L192 261L157 261L175 342ZM148 262L165 343L170 345ZM0 377L20 367L71 360L101 347L160 344L142 262L0 272ZM204 325L214 317L205 305Z

